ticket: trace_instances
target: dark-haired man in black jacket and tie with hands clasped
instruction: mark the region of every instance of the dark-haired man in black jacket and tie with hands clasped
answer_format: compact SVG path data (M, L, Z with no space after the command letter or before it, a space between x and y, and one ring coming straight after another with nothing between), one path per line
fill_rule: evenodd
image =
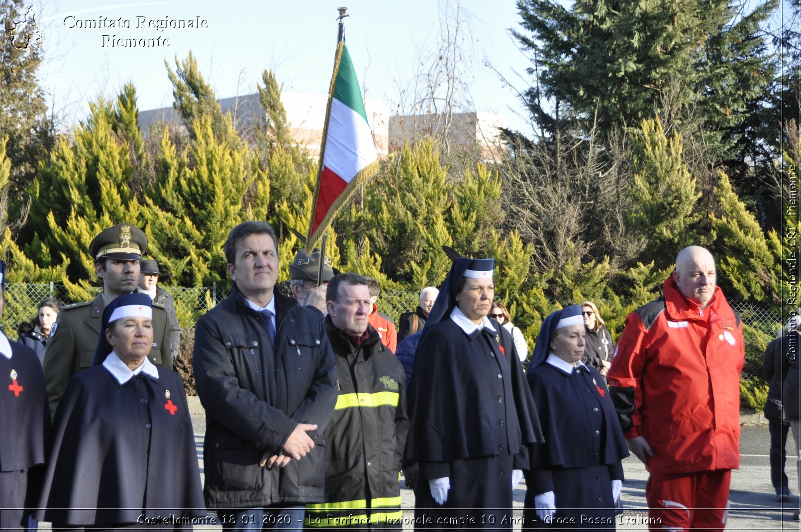
M277 248L264 222L233 228L225 242L231 296L195 328L207 416L203 494L223 530L300 529L303 505L323 501L336 361L319 316L274 290Z

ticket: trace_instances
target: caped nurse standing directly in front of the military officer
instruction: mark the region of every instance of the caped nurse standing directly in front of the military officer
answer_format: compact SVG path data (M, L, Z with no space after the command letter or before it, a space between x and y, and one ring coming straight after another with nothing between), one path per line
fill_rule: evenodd
M66 387L38 517L53 527L186 528L207 514L183 380L147 360L151 299L103 311L95 365Z

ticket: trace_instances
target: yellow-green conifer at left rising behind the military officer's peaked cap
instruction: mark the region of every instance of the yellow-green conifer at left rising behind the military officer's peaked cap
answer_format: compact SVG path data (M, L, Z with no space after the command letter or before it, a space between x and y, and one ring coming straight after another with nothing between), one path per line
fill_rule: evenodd
M39 167L38 179L29 187L26 231L32 237L26 254L40 268L66 267L64 283L74 300L90 298L95 282L94 261L87 253L91 240L114 224L141 227L143 222L129 186L135 150L128 135L115 132L118 111L103 99L91 103L74 139L59 139L50 163Z

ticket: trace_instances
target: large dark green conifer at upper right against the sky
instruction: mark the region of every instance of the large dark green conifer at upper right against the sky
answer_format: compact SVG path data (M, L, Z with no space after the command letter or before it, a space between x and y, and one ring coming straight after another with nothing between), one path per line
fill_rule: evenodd
M536 78L525 103L552 134L558 104L585 123L597 119L602 136L656 113L666 123L701 117L718 140L734 135L747 102L771 83L759 24L777 5L767 0L743 16L731 0L582 0L570 9L518 0L523 30L513 34Z

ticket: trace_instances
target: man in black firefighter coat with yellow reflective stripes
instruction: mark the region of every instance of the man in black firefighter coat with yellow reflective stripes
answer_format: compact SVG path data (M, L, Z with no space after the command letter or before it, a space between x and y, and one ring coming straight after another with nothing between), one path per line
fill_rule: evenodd
M334 276L326 299L339 396L325 429L325 502L306 507L306 527L400 530L400 462L409 430L405 373L368 324L367 278Z

